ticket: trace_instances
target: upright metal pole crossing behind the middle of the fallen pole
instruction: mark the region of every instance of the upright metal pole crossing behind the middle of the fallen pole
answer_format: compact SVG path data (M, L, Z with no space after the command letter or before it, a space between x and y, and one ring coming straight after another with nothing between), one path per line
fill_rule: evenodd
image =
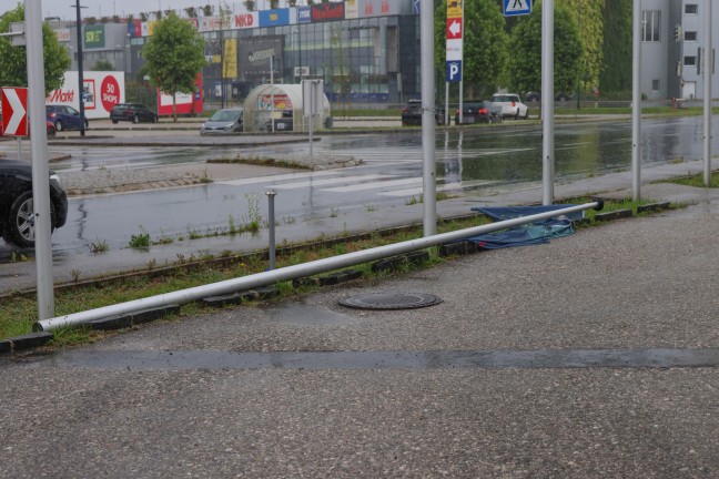
M422 51L422 157L424 235L437 233L437 182L435 165L435 81L434 81L434 2L423 1L421 10Z

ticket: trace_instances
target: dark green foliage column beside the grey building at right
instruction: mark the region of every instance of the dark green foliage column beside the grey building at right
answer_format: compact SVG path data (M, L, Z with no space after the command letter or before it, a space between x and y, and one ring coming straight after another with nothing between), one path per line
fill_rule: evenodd
M626 0L606 0L604 9L602 92L631 90L631 7Z

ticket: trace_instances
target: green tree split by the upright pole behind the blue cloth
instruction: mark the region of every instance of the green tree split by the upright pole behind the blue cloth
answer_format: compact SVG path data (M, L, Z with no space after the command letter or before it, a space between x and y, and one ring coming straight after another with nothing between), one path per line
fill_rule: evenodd
M555 4L555 91L574 91L581 72L584 52L577 23L566 7ZM508 85L525 93L541 88L541 2L517 21L509 39Z

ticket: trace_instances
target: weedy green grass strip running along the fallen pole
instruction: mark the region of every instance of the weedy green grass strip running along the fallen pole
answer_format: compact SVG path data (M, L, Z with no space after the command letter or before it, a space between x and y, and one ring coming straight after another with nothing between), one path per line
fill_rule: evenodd
M588 197L571 198L564 203L587 203L591 200ZM631 207L636 212L639 204L652 203L649 200L641 202L634 201L606 201L605 212L625 210ZM587 217L591 218L596 212L589 210L586 212ZM464 230L473 226L479 226L489 223L489 220L483 215L470 215L464 218L454 218L450 221L439 222L437 225L438 233L446 233L457 230ZM417 224L414 227L402 228L387 234L373 232L365 240L352 238L350 241L337 240L326 243L322 246L305 245L300 248L288 248L277 252L277 267L307 263L324 257L336 256L338 254L363 251L381 245L394 244L403 241L419 238L423 236L423 226ZM431 261L422 267L432 264L449 261L436 255L436 248L429 248ZM247 255L242 257L227 258L230 252L224 252L222 257L226 258L222 265L220 262L209 264L193 264L198 259L216 259L212 255L201 254L199 257L181 257L176 266L169 273L153 272L153 275L138 275L122 281L98 282L91 286L77 286L74 288L61 288L55 293L55 316L78 313L88 309L94 309L102 306L124 303L159 294L171 293L194 286L206 285L225 279L246 276L264 272L267 262L259 255ZM406 271L421 266L407 267ZM356 268L365 272L365 281L371 281L374 273L371 273L368 264L357 265ZM149 268L152 269L152 268ZM403 271L405 271L403 268ZM150 273L150 272L148 272ZM382 273L386 276L387 273ZM303 289L304 291L304 289ZM292 289L292 286L283 285L283 294L298 294ZM181 316L194 316L205 312L203 306L198 304L184 305ZM28 334L31 330L32 323L37 319L37 303L33 295L16 295L6 297L0 302L0 338L19 336ZM67 346L79 343L88 343L103 337L108 333L91 332L87 328L63 329L55 333L53 346Z

